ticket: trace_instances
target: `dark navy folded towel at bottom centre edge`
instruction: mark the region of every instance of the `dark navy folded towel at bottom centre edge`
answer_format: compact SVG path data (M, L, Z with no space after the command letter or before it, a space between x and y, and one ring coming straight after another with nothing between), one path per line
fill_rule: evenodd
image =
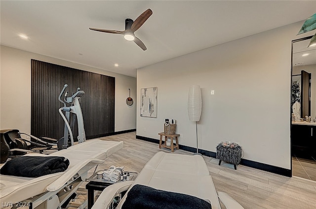
M167 192L149 186L134 185L127 193L122 209L211 209L211 204L197 197Z

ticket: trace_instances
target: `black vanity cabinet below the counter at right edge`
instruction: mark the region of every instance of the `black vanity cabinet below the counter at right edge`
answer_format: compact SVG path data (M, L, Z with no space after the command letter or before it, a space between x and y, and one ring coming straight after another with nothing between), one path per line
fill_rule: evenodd
M292 124L292 156L316 159L316 125Z

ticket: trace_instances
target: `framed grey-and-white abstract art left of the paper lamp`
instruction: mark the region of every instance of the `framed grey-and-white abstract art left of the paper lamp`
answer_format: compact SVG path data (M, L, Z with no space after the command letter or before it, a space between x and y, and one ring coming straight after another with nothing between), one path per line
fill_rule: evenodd
M157 87L140 90L140 116L157 118Z

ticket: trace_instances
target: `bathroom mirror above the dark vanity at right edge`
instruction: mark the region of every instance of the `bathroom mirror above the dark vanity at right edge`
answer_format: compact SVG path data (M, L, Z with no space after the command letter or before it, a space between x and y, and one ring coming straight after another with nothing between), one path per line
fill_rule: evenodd
M316 118L316 45L307 48L311 37L292 42L292 111L299 110L299 117ZM299 98L295 101L299 88ZM293 101L294 99L294 101ZM294 103L293 103L294 102Z

